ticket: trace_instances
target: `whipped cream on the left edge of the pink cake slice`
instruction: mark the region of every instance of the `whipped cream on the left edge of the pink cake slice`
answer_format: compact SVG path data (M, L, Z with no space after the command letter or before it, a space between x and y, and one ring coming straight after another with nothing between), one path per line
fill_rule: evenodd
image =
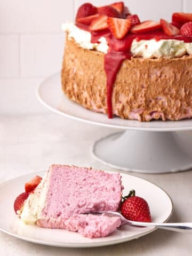
M49 176L50 172L43 177L42 181L34 190L34 193L28 196L22 209L17 212L21 220L26 224L35 224L41 217L41 212L46 203Z

